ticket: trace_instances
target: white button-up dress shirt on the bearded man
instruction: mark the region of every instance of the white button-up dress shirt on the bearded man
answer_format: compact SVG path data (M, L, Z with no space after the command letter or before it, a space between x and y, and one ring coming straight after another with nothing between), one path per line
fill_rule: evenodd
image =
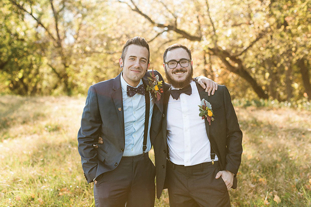
M211 161L211 145L205 121L199 116L199 91L195 81L190 84L191 95L182 93L177 100L170 95L167 114L170 160L185 166ZM172 86L172 89L176 88ZM217 155L215 160L218 160Z

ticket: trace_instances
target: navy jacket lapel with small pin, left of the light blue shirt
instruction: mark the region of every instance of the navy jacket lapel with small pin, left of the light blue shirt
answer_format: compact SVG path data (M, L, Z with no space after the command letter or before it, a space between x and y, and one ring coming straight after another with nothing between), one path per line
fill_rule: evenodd
M124 140L124 113L123 113L123 100L122 100L122 88L121 88L121 80L120 80L121 73L114 78L114 83L113 83L113 92L111 93L114 106L119 118L119 124L121 127L122 135L123 135L123 140Z

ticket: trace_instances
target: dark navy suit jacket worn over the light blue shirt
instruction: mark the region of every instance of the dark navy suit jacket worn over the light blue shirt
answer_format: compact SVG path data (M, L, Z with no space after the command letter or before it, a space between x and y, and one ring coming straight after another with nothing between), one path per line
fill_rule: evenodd
M147 71L142 78L143 84L148 84ZM160 80L163 80L161 74ZM121 73L115 78L98 82L90 86L82 113L81 127L78 132L78 151L81 155L82 168L87 182L100 174L117 167L124 151L124 115ZM164 81L163 81L164 82ZM163 100L154 101L151 119L151 144L157 136L163 117ZM94 148L98 137L103 138L103 144Z

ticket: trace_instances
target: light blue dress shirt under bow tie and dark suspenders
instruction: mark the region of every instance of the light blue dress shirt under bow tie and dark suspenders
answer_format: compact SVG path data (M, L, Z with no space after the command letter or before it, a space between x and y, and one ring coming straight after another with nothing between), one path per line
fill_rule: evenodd
M124 135L125 135L125 147L123 156L135 156L142 154L142 143L144 133L144 119L145 119L145 97L139 93L136 93L132 97L128 97L126 94L127 82L121 74L121 87L122 87L122 100L123 100L123 113L124 113ZM139 84L143 84L140 80ZM154 106L154 101L151 95L150 97L150 110L149 110L149 122L148 122L148 136L147 136L147 148L145 152L151 148L150 142L150 126L151 117Z

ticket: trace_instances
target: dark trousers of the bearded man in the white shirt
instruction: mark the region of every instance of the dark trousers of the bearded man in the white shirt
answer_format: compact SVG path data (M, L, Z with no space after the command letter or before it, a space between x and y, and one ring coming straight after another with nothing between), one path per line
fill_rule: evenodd
M220 171L216 161L193 166L177 165L169 161L168 189L171 207L226 207L230 205L224 180L215 178Z

